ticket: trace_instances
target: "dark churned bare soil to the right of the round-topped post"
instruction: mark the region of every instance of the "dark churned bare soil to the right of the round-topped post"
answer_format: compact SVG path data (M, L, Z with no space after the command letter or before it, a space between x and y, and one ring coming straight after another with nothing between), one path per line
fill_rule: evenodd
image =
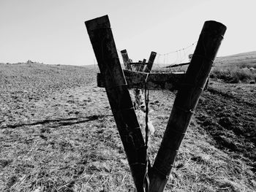
M256 86L211 83L200 99L195 118L217 147L244 158L256 172Z

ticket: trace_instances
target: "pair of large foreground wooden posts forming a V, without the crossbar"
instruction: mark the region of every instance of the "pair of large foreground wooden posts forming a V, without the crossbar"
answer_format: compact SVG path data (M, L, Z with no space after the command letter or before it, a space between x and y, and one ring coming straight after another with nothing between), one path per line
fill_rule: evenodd
M174 101L157 157L153 167L149 170L150 186L148 191L144 191L143 188L146 174L145 142L129 96L127 81L118 59L108 15L86 21L86 28L101 72L99 77L103 81L102 85L106 88L137 191L162 192L165 189L178 148L208 79L226 27L222 23L212 20L206 21L203 26L192 61ZM140 77L142 76L143 74L140 75Z

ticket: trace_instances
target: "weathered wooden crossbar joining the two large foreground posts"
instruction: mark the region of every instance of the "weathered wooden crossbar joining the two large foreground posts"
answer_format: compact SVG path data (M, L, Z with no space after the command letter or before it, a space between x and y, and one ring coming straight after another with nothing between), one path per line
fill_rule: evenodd
M127 80L127 86L131 88L145 88L145 80L147 73L132 72L124 70L124 76ZM147 89L148 90L178 90L184 79L184 73L150 73L148 74ZM97 85L105 88L105 79L101 73L97 74Z

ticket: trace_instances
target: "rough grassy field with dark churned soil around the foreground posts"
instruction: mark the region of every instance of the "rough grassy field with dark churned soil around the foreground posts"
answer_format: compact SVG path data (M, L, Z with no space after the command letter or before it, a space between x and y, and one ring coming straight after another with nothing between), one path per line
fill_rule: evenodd
M0 191L135 191L97 72L0 64ZM210 82L166 191L256 191L256 85ZM151 162L175 95L150 91Z

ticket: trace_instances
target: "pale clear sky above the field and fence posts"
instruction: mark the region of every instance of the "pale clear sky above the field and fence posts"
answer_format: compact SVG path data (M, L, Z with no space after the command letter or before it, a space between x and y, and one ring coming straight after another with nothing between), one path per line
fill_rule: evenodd
M255 0L0 0L0 63L94 64L84 21L102 15L134 61L191 45L206 20L227 26L218 56L254 51L255 8Z

